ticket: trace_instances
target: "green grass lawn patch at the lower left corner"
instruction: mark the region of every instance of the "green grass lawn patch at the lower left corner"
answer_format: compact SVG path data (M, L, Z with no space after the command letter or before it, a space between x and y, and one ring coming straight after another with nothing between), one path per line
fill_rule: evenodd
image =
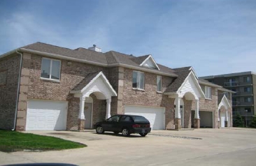
M76 149L85 146L78 142L71 142L57 137L0 130L0 151L5 151L6 149L17 149L16 151L23 149L48 151Z

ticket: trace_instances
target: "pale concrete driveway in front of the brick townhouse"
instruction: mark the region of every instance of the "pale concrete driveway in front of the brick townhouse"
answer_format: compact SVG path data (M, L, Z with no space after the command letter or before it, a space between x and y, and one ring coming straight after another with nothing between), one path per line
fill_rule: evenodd
M255 165L256 130L157 130L146 137L112 133L30 132L87 144L83 149L44 152L0 152L1 165L73 163L76 165Z

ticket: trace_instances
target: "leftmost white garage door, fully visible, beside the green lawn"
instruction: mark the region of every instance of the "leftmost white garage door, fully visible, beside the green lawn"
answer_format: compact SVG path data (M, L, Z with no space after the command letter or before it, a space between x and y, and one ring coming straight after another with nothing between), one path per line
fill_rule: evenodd
M29 100L26 130L66 130L67 103Z

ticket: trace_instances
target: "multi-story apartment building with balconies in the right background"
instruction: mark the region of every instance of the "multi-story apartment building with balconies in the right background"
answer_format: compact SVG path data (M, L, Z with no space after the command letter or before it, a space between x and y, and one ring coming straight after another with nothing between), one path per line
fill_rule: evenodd
M256 112L256 73L252 71L200 77L235 91L232 96L233 116L241 114L247 126Z

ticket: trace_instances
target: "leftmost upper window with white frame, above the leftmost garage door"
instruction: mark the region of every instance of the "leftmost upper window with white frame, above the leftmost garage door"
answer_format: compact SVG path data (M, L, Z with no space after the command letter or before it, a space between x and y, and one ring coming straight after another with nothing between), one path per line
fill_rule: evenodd
M42 59L41 77L51 80L59 80L60 61L54 59Z

